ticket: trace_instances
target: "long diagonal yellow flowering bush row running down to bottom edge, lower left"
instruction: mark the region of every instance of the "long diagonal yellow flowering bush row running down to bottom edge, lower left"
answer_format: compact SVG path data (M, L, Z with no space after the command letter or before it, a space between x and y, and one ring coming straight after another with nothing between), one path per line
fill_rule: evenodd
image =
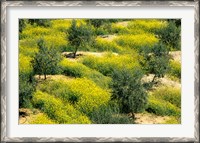
M59 124L88 124L90 120L76 110L69 103L63 104L62 100L53 95L37 91L33 96L34 106L42 110L51 119Z

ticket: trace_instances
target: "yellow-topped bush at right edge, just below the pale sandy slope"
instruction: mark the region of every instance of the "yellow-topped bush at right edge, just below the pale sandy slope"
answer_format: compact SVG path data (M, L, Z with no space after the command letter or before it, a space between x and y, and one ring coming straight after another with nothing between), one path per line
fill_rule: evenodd
M170 102L176 107L181 108L181 90L174 87L159 87L153 91L152 96Z

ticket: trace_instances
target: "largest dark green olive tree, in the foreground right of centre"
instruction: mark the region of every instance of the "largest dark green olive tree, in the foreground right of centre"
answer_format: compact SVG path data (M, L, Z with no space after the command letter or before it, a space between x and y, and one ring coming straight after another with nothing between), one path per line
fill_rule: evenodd
M126 68L114 70L112 74L112 99L117 100L123 113L131 113L135 119L135 113L145 109L147 93L141 78L141 70L128 70Z

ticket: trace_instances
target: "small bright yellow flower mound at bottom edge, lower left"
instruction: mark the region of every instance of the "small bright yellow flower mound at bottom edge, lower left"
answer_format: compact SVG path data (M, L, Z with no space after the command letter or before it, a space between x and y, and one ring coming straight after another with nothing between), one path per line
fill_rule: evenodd
M30 124L56 124L56 122L49 119L46 114L40 113L31 119Z

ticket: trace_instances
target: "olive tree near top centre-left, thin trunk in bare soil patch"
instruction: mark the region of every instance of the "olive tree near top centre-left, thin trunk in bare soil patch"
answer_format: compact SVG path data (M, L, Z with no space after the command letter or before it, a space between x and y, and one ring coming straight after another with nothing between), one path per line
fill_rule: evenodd
M68 41L74 48L74 58L76 58L76 52L79 48L89 45L93 41L92 29L83 24L78 26L75 20L72 21L72 25L68 30L68 34Z

